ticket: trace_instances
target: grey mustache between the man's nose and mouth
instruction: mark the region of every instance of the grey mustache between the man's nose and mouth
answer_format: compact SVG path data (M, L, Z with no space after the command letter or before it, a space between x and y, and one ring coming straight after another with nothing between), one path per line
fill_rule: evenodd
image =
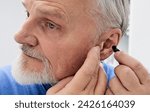
M45 56L39 52L37 49L33 48L32 46L29 46L27 44L21 45L21 50L24 54L26 54L27 56L39 59L41 61L45 60Z

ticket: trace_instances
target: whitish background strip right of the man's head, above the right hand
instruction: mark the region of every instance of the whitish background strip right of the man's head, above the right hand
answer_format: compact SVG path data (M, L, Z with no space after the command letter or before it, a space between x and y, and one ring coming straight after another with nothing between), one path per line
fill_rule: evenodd
M131 0L129 54L150 70L150 0Z

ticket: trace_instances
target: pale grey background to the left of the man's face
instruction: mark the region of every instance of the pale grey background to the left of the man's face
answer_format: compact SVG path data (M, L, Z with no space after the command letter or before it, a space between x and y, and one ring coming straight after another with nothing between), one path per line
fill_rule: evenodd
M21 0L0 2L0 66L11 64L18 54L14 34L25 20L25 9Z

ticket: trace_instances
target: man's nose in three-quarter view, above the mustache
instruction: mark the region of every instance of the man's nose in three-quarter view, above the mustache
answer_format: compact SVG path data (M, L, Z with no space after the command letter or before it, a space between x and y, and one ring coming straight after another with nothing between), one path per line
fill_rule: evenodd
M31 22L26 21L20 31L15 34L15 41L19 44L28 44L36 46L38 44L37 37L34 35L34 27Z

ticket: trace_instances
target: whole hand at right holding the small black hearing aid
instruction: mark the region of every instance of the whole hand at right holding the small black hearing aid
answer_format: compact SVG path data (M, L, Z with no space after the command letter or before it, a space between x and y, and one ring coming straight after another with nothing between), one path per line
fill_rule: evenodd
M106 94L150 94L150 75L146 68L122 51L116 52L114 56L119 65L115 68L116 77L110 81Z

